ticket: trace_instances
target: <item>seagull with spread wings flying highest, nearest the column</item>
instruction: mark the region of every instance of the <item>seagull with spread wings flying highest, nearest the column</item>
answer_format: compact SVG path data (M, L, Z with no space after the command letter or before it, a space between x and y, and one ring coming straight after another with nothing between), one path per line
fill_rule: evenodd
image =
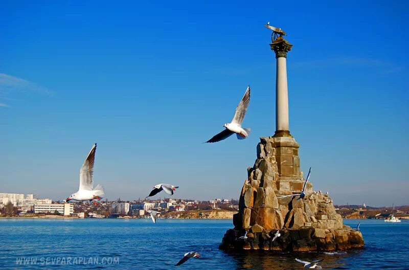
M232 122L225 123L223 126L226 129L224 129L220 133L213 136L213 138L207 141L207 143L215 143L215 142L222 141L232 136L234 133L236 133L237 139L239 140L243 140L247 138L251 129L242 128L241 123L244 120L249 103L250 103L250 86L247 87L246 93L244 93L243 98L241 99L239 105L237 106Z

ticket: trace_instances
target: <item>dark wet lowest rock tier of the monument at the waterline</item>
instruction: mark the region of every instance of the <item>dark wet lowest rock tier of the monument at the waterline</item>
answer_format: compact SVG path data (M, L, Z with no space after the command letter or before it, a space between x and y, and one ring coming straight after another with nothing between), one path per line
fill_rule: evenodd
M257 230L256 230L257 231ZM222 239L221 250L264 250L271 252L345 251L363 247L362 234L343 226L340 230L302 227L298 230L280 230L281 236L272 242L277 230L262 230L247 234L247 239L237 239L244 230L228 230Z

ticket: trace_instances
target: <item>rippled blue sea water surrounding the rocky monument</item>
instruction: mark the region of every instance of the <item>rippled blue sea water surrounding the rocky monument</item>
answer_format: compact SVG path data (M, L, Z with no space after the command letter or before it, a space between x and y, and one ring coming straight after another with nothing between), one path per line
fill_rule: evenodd
M364 250L238 254L218 250L231 220L1 218L0 269L170 269L189 251L202 257L178 268L302 269L300 258L328 269L409 269L409 221L360 222Z

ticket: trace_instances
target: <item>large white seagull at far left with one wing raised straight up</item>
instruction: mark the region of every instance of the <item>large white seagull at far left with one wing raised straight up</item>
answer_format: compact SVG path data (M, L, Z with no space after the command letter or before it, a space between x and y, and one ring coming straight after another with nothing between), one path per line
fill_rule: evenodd
M94 162L95 162L95 151L97 150L97 144L94 144L89 151L84 164L82 164L80 170L80 188L77 192L72 194L66 199L70 200L89 200L92 201L94 205L98 205L96 200L100 200L104 197L104 188L101 185L97 185L95 189L94 186Z

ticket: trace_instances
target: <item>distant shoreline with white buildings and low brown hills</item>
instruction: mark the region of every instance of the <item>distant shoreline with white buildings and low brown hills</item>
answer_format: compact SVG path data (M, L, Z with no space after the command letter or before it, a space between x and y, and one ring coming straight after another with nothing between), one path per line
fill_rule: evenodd
M34 194L0 193L0 218L150 218L147 210L161 212L158 218L176 219L232 219L238 211L235 199L159 198L155 200L100 201L99 206L87 202L52 201ZM9 207L8 213L7 207ZM409 219L409 206L376 208L362 204L336 206L337 214L344 219L387 219L394 215Z

